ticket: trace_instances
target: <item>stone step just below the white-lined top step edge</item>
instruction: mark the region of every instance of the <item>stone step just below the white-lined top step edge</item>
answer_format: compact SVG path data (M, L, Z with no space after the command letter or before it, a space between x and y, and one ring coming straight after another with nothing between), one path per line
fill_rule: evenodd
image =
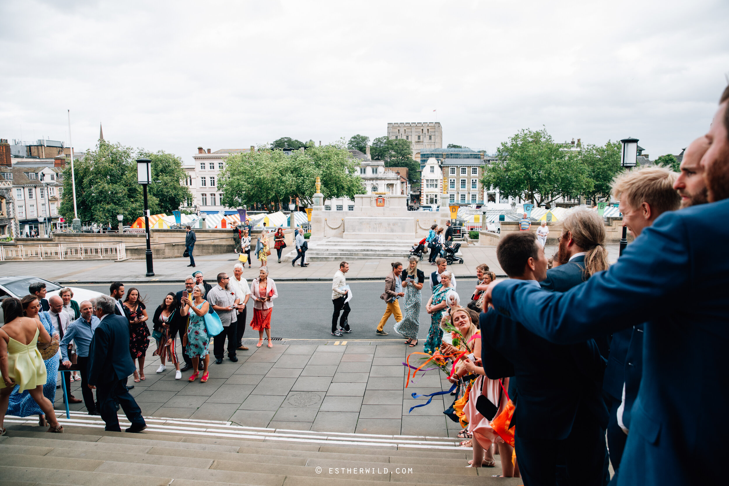
M250 442L235 439L219 439L210 438L203 436L179 436L179 435L164 435L164 434L126 434L125 432L106 432L99 431L98 429L75 429L71 433L65 433L62 436L58 434L48 434L47 432L37 432L32 430L31 427L23 427L22 430L17 430L11 426L9 432L12 434L9 443L21 442L23 444L44 444L45 447L54 447L52 444L55 441L63 442L74 442L74 447L86 448L86 447L100 447L104 450L117 450L118 447L163 447L172 448L179 450L190 450L190 451L211 451L211 452L234 452L234 453L246 453L246 454L265 454L265 455L280 455L284 457L299 457L309 458L316 457L317 452L324 454L346 454L346 455L365 455L368 458L375 456L381 457L387 455L391 458L402 458L402 460L410 460L410 458L438 458L438 459L453 459L453 460L464 460L469 458L471 450L466 447L462 447L457 452L448 452L443 450L422 450L422 449L410 449L396 448L396 447L364 447L362 444L356 446L347 446L338 442L330 442L325 445L315 444L303 444L301 442ZM36 428L37 430L37 428ZM96 435L98 434L98 435ZM2 437L6 439L6 437ZM23 441L22 439L32 439L36 442ZM0 445L2 442L0 442ZM97 444L90 446L89 444ZM344 452L346 451L346 452Z

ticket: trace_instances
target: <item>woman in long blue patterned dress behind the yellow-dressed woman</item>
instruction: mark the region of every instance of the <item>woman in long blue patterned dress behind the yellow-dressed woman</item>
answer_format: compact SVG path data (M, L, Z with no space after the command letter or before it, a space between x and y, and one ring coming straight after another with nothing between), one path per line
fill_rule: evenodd
M33 318L36 321L40 321L51 337L54 333L58 335L58 332L56 332L53 328L53 324L51 324L50 314L45 311L40 312L41 302L38 300L38 297L34 295L26 295L26 297L23 297L20 302L23 305L23 311L26 317ZM55 353L50 358L44 360L48 380L46 381L46 384L43 385L43 396L49 399L51 403L55 401L55 384L58 379L59 361L61 361L60 349L58 350L58 353ZM15 385L15 390L13 390L13 392L9 396L7 415L15 415L15 417L28 417L30 415L38 415L38 425L42 427L47 426L48 422L47 420L45 420L45 415L41 407L39 407L39 405L36 403L36 401L33 399L31 394L28 393L27 390L23 391L23 393L17 393L19 389L20 387L18 385Z

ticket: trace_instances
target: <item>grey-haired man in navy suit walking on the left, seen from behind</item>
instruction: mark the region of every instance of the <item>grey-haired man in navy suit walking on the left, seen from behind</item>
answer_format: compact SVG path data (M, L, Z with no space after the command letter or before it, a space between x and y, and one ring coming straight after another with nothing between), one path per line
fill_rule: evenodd
M129 394L127 377L134 371L134 361L129 353L129 321L114 314L114 299L102 295L95 299L96 316L100 323L93 333L89 350L90 388L96 388L98 411L106 423L104 430L120 432L117 402L132 423L127 432L141 432L147 423L141 409Z

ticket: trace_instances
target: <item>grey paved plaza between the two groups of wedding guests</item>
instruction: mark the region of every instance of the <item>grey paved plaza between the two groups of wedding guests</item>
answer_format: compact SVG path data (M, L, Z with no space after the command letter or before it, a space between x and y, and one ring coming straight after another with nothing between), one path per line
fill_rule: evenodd
M128 383L135 385L131 393L145 416L387 435L456 436L461 430L443 415L453 401L449 394L435 396L430 404L408 413L410 407L427 400L413 399L411 393L451 388L438 369L418 374L415 383L405 388L407 372L402 361L407 353L421 348L336 343L251 345L251 350L238 351L237 363L226 358L223 364L214 364L211 356L207 383L199 378L189 383L192 370L184 372L182 380L174 380L170 366L157 375L160 361L150 347L144 368L147 379L133 383L130 378ZM80 383L71 385L78 397ZM63 409L61 390L56 393L55 408ZM70 408L85 411L83 404Z

